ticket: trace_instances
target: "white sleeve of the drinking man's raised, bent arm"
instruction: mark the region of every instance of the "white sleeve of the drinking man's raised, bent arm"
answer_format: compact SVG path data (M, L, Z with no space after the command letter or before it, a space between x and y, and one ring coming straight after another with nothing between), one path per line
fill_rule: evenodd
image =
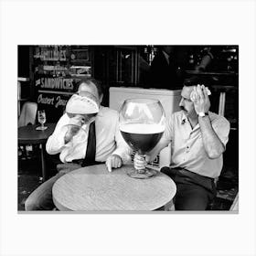
M63 129L63 126L68 123L69 123L69 116L65 113L60 117L54 132L48 137L46 150L49 155L58 154L64 148L69 147L69 144L65 144L64 142L64 136L67 131Z

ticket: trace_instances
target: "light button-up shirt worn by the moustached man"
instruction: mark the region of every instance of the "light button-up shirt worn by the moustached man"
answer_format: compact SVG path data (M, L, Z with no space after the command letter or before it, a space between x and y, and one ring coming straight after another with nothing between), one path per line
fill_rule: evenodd
M221 143L226 146L229 140L229 121L214 112L208 112L211 125ZM182 167L201 176L218 177L223 157L210 159L204 148L200 126L191 128L184 112L175 112L166 123L163 138L171 141L170 167Z

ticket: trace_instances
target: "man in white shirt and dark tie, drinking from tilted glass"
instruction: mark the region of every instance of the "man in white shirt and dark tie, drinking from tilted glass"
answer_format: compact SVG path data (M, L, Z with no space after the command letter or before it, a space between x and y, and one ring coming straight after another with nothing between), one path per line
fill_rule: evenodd
M95 99L98 105L103 97L100 83L94 79L81 80L78 94L80 96L91 95L91 99ZM26 210L51 210L54 208L52 187L60 176L69 171L81 166L105 162L106 169L111 172L112 167L121 167L123 163L130 160L131 149L124 142L120 133L118 112L100 105L97 115L91 114L90 122L84 122L85 116L88 115L72 115L65 112L59 119L54 133L48 138L46 149L50 155L59 154L59 159L63 164L57 166L59 173L56 176L37 187L27 198ZM87 163L88 133L92 121L95 121L96 146L93 161ZM67 132L67 124L77 124L82 129L79 133L70 136Z

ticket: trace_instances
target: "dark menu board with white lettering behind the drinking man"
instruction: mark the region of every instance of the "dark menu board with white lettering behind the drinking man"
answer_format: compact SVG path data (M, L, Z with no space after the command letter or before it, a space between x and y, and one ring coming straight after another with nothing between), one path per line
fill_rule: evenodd
M37 46L34 74L38 109L47 122L57 122L77 83L91 77L91 49L88 46Z

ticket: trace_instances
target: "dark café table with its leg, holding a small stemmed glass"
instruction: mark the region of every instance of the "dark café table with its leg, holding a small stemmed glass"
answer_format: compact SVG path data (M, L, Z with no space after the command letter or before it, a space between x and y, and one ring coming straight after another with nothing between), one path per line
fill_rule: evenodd
M53 133L56 123L45 123L48 129L36 130L40 124L26 125L18 128L18 144L41 144L41 164L43 181L46 180L45 144Z

